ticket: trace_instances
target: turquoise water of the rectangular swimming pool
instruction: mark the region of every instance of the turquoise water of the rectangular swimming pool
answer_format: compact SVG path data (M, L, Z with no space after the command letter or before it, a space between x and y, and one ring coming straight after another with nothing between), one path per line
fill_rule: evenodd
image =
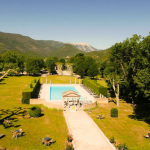
M62 100L62 92L72 90L75 92L78 92L75 87L73 86L51 86L50 87L50 100ZM78 92L79 95L81 95ZM84 98L81 96L81 100L84 100Z

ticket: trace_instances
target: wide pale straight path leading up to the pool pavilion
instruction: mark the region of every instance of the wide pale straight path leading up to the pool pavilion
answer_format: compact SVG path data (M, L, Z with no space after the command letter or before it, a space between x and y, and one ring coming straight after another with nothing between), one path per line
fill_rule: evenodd
M64 111L64 116L76 150L115 150L84 111Z

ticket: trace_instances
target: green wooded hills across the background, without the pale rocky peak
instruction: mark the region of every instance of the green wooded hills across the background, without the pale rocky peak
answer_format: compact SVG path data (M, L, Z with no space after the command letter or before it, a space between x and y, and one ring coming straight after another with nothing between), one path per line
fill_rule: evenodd
M43 57L48 56L64 58L66 56L74 56L77 53L85 53L77 47L65 44L63 42L53 40L34 40L28 36L20 34L0 32L0 54L11 50L17 53L25 54L28 57ZM85 53L93 58L100 58L105 61L108 58L110 49L103 51L92 51Z

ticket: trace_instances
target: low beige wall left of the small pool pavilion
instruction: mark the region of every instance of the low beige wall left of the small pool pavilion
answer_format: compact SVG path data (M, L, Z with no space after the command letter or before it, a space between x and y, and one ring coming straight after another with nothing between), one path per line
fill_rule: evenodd
M43 104L48 108L64 109L62 105L48 103L44 99L30 99L30 104Z

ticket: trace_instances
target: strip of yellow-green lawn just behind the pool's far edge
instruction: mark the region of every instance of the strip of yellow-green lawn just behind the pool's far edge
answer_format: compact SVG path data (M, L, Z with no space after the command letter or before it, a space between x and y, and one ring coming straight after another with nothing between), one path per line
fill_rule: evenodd
M70 84L70 81L71 81L71 84L75 84L75 77L73 76L58 76L58 75L49 75L47 77L47 83L50 83L50 80L51 80L51 83L52 84ZM42 83L46 83L46 77L42 77ZM76 83L78 84L79 83L79 79L76 78ZM80 79L80 83L82 83L81 79Z

